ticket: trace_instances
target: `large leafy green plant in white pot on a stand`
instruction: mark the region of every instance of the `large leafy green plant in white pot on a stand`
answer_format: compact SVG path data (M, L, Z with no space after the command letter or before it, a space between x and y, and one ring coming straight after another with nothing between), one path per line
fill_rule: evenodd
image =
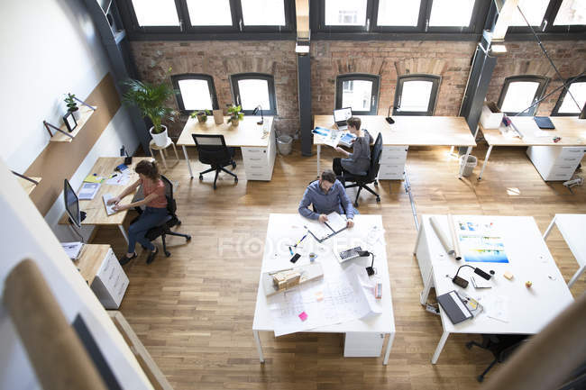
M139 80L129 79L124 82L128 89L123 95L124 103L138 107L142 117L149 118L152 127L149 130L152 139L157 146L164 147L167 144L167 126L163 120L175 121L175 111L169 108L165 102L174 94L173 88L165 83L151 84Z

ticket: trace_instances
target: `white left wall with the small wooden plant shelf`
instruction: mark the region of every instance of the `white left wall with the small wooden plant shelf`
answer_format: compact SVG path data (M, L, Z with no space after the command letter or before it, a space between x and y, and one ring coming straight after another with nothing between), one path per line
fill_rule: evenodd
M59 125L65 113L64 94L80 99L110 71L109 61L86 6L80 0L3 2L0 23L0 107L8 126L2 134L0 159L23 173L49 143L43 120ZM6 136L7 134L14 134ZM80 164L71 184L80 186L98 157L118 156L121 145L133 152L139 145L132 122L122 107L94 149ZM60 238L71 239L56 222L64 213L59 198L47 222Z

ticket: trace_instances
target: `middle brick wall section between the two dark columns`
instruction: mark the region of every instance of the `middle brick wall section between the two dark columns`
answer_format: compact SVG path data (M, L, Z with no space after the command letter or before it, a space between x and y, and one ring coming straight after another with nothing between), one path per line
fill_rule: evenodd
M428 73L442 77L435 114L457 115L475 46L453 41L312 41L313 113L332 113L335 77L340 74L380 75L379 114L386 115L398 75Z

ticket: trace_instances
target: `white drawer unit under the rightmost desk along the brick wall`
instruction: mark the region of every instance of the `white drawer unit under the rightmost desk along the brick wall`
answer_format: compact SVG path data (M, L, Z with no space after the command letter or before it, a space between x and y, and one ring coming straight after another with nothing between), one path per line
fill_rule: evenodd
M584 147L530 146L526 153L545 181L569 180L581 159Z

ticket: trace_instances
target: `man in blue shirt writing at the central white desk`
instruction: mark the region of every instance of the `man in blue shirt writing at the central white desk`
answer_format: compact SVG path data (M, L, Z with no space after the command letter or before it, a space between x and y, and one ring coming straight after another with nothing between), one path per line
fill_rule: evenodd
M310 204L313 204L316 212L309 209ZM353 217L358 212L354 210L342 183L336 180L334 172L328 169L322 173L319 180L307 186L303 199L299 204L299 213L306 218L323 223L327 221L327 214L333 212L346 214L348 227L352 228L354 226Z

